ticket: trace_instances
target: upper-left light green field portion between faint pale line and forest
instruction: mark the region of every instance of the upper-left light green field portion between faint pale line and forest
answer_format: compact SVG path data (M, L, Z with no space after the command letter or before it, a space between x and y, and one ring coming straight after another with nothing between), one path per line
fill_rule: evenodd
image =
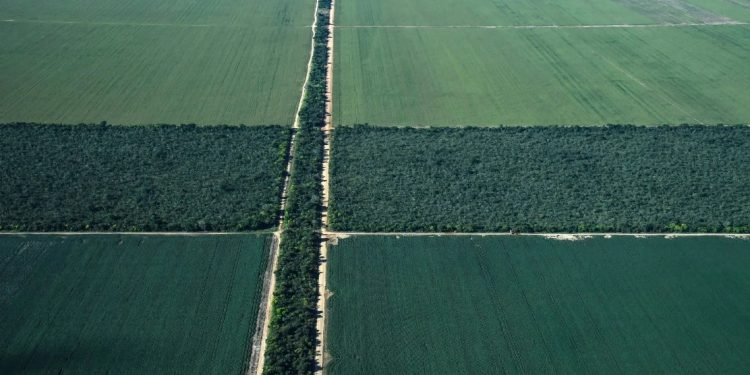
M0 23L0 122L291 124L303 27Z

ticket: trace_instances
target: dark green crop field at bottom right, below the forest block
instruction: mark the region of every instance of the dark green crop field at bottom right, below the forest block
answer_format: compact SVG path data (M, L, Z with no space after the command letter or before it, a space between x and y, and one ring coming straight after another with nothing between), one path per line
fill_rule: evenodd
M368 236L328 259L331 375L750 372L748 239Z

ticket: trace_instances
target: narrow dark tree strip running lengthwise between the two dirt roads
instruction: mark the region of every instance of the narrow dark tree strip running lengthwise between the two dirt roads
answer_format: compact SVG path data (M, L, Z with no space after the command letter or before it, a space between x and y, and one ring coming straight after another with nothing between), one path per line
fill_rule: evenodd
M315 371L321 171L326 102L328 11L319 0L313 63L293 155L264 374Z

